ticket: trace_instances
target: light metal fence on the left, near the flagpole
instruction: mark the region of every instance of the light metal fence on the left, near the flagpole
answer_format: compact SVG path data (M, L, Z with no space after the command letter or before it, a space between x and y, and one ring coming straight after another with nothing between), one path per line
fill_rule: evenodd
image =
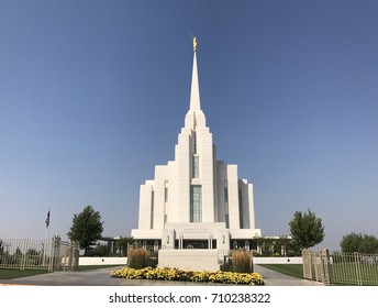
M0 240L0 268L46 270L48 272L75 270L79 248L59 237L51 240Z

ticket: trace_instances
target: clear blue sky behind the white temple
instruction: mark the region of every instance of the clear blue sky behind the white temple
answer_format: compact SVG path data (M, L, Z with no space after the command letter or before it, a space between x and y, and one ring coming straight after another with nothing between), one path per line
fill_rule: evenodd
M321 246L378 237L377 1L0 2L0 238L67 239L92 205L137 227L140 185L174 160L198 36L218 160L254 184L256 227L323 220Z

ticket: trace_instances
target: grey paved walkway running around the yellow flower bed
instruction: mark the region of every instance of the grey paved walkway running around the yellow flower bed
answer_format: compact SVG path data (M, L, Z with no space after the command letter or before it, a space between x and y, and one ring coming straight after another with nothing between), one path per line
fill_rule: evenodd
M55 272L9 280L0 280L0 285L40 285L40 286L198 286L199 283L140 280L111 278L110 273L120 268L101 268L86 272ZM271 270L255 265L255 272L259 273L267 286L322 286L320 283L290 277ZM215 284L211 284L212 286ZM219 284L224 286L224 284ZM235 286L235 285L232 285Z

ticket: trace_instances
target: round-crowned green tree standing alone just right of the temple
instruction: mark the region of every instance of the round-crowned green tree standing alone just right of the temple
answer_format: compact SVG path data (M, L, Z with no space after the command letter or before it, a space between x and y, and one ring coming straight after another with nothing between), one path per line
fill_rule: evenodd
M296 211L289 226L291 238L301 250L312 248L324 239L322 220L310 210L304 213Z

